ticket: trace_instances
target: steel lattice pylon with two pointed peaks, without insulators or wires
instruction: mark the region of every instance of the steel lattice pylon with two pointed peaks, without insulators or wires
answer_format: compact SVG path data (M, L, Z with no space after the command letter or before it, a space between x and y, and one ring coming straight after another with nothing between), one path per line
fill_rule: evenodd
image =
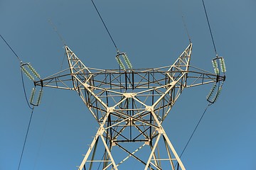
M184 88L225 80L192 67L191 51L167 67L94 69L65 46L69 68L35 84L77 91L99 123L78 169L124 169L134 159L137 169L185 169L162 123Z

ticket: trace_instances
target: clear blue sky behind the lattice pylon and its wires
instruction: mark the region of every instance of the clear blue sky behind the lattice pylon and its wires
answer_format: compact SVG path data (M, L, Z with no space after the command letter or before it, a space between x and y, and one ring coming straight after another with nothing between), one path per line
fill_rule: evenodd
M218 54L225 57L227 80L181 159L189 170L253 170L256 1L205 3ZM95 4L119 50L127 52L136 68L172 64L183 52L188 45L183 13L193 42L191 64L213 72L215 52L201 0L95 0ZM41 77L60 70L65 52L48 19L85 65L118 68L114 46L91 1L1 0L1 35ZM0 169L17 169L31 111L23 94L18 60L2 40L0 52ZM29 96L33 84L28 79L25 84ZM210 87L185 89L164 122L178 154L207 106ZM75 91L45 88L41 106L33 114L20 169L76 169L97 130L80 97Z

